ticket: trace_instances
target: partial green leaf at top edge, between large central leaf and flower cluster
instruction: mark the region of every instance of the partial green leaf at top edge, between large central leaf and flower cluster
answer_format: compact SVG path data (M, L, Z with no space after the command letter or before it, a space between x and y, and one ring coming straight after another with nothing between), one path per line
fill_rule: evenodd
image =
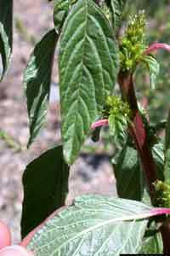
M112 25L114 30L120 26L122 10L126 0L106 0L106 4L111 9Z

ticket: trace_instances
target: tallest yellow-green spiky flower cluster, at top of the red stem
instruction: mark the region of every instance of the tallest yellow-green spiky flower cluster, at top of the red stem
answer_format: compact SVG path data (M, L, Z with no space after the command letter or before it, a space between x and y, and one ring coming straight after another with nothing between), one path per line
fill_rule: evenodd
M145 25L144 11L140 11L139 15L130 18L120 46L120 61L123 71L133 71L142 60L144 49L146 49Z

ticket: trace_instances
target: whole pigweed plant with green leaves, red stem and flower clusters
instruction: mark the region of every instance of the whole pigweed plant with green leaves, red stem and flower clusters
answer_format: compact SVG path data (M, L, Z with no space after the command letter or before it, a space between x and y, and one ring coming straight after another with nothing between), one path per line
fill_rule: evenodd
M58 46L62 145L26 166L21 244L37 256L170 253L170 113L166 121L150 124L134 82L142 66L154 90L156 51L170 51L170 46L147 44L144 11L130 17L120 33L125 0L52 2L54 29L33 49L24 90L29 147L45 121ZM12 52L12 15L13 1L0 1L1 79ZM114 92L116 84L120 96ZM63 207L70 167L87 137L99 140L103 125L109 126L116 148L119 198L82 195ZM159 137L163 129L164 140Z

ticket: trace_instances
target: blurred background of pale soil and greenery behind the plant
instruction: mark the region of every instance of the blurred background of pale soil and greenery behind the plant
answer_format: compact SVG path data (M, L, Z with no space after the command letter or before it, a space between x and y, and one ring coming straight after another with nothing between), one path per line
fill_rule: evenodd
M170 44L170 2L168 0L127 0L122 27L129 15L145 9L147 42ZM47 0L14 1L14 48L8 75L0 84L0 218L12 232L13 241L20 241L20 213L23 199L22 173L26 164L42 151L60 143L59 88L57 60L51 86L48 118L35 143L26 150L29 137L26 98L23 93L23 71L29 55L42 35L53 27L53 5ZM156 90L150 90L148 73L136 73L135 88L139 99L147 106L150 121L166 117L170 108L170 55L157 55L161 64ZM99 143L87 140L82 154L71 167L70 193L67 203L82 193L116 195L111 155L114 148L108 131L102 131ZM33 210L33 209L32 209Z

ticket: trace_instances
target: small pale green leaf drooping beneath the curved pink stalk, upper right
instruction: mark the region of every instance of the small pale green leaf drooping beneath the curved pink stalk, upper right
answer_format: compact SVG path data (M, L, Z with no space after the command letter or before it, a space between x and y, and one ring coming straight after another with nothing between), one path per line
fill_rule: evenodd
M150 87L151 89L156 88L156 78L160 71L160 65L156 59L150 55L144 56L144 63L150 73Z

